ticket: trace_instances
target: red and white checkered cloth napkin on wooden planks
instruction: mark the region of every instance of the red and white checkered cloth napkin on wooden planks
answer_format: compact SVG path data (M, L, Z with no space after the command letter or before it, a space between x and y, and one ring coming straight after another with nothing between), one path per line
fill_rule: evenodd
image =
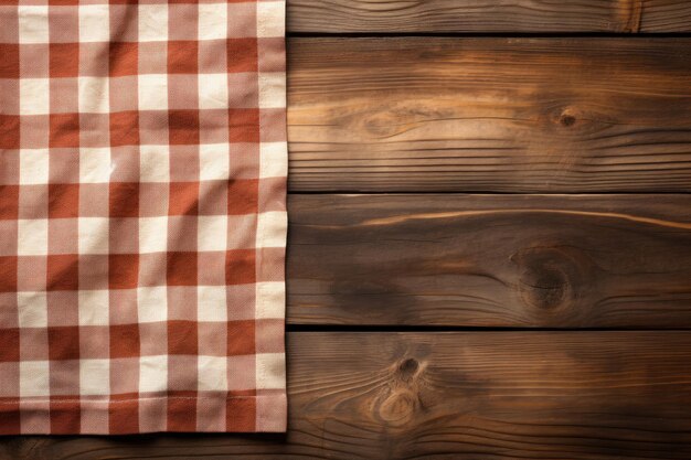
M285 430L284 8L0 0L0 434Z

